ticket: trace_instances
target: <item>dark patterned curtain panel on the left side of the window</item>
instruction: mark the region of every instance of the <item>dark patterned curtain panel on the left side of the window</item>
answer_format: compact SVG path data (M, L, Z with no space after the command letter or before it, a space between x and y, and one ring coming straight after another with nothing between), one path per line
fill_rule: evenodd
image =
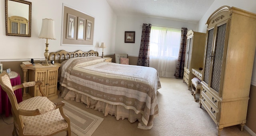
M150 30L151 30L151 24L142 25L140 52L139 52L139 57L137 62L138 66L149 67Z

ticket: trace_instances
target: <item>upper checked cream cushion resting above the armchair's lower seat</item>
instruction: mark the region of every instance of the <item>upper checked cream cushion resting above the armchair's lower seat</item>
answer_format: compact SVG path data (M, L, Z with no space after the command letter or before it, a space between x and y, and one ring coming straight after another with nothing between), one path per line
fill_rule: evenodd
M21 110L36 110L39 109L41 114L55 109L55 104L46 96L36 96L24 100L18 104Z

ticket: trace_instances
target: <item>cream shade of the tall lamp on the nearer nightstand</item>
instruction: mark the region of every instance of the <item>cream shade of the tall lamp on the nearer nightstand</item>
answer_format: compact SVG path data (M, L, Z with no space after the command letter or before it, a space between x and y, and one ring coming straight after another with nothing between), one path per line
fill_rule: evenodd
M42 28L38 37L56 40L54 31L54 20L48 18L44 18L42 20Z

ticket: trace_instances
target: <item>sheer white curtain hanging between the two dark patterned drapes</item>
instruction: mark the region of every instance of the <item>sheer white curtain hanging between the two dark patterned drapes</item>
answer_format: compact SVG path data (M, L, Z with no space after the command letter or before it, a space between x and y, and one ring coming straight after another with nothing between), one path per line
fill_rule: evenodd
M174 77L180 48L181 29L152 26L150 63L160 77Z

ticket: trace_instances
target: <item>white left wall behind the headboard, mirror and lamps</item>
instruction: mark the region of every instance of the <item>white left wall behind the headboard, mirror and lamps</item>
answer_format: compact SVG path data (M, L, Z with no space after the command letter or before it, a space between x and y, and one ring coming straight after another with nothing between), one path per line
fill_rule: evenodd
M38 38L41 30L42 19L55 20L56 40L48 40L49 52L66 50L96 50L101 54L99 43L105 42L107 48L104 54L114 52L116 14L112 11L106 0L28 0L32 2L32 29L31 37L6 36L5 34L5 5L0 2L0 61L14 60L44 60L46 39ZM62 28L62 3L80 12L95 17L93 46L61 46Z

